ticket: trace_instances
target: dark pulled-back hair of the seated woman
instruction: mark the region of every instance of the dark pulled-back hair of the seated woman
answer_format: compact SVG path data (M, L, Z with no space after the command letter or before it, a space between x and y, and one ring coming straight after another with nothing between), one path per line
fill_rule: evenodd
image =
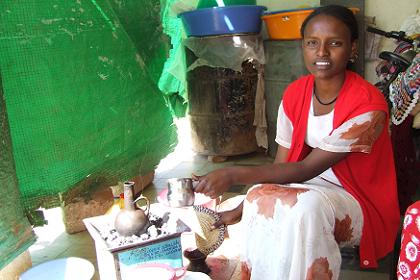
M327 15L335 17L336 19L344 23L350 30L352 42L359 38L359 31L357 30L357 21L353 12L347 9L346 7L339 5L328 5L319 7L316 8L311 14L309 14L309 16L303 21L302 26L300 28L300 34L302 35L302 37L303 33L305 32L306 25L308 25L309 21L317 15Z

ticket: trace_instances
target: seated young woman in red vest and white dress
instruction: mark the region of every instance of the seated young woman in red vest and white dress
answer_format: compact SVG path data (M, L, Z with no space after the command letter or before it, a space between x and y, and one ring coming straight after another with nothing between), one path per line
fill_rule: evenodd
M257 184L220 221L241 220L251 279L338 279L339 247L356 244L361 266L374 268L399 226L386 101L346 70L358 38L353 13L318 8L301 33L311 74L284 93L274 163L196 176L196 191L213 198L234 184Z

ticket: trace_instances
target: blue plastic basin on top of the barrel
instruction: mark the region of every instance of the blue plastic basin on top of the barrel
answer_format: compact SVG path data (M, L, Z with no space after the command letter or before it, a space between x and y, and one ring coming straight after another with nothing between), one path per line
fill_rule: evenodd
M198 9L179 14L187 36L259 33L261 15L267 8L240 5Z

